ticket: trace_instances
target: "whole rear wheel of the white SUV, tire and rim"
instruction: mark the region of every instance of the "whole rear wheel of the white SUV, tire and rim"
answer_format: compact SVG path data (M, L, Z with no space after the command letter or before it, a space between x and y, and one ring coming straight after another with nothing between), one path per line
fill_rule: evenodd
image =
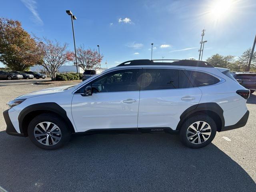
M210 116L195 115L182 124L180 140L187 147L202 148L212 142L216 129L216 123Z

